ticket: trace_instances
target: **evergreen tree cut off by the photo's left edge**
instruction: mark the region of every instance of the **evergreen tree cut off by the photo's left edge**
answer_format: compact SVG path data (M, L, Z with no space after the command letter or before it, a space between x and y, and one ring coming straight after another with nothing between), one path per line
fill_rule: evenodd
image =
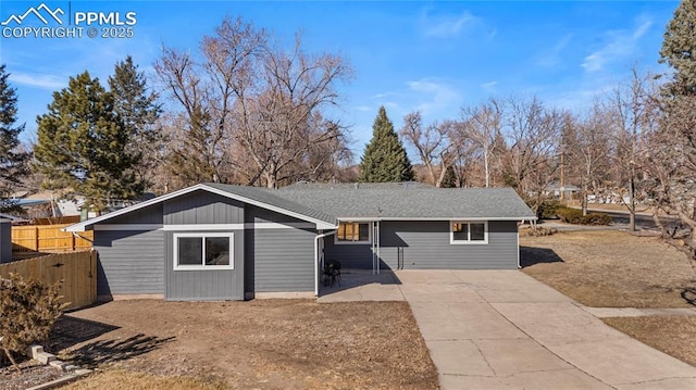
M29 153L18 149L24 125L15 125L17 96L8 84L9 77L5 65L0 65L0 211L14 205L10 194L28 173L29 159Z

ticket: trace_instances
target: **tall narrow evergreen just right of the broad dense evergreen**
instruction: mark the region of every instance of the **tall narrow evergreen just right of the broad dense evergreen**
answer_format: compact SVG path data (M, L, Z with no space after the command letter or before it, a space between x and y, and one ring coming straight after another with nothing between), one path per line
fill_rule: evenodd
M138 179L150 185L162 146L156 125L162 111L158 96L148 90L145 74L138 72L130 55L116 63L109 77L109 90L113 111L129 138L125 152L133 160Z

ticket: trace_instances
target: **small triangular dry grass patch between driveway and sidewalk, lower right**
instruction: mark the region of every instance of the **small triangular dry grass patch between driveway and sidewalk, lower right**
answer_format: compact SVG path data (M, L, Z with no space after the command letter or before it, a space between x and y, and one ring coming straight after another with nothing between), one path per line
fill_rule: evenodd
M696 366L696 317L612 317L604 322L634 339Z

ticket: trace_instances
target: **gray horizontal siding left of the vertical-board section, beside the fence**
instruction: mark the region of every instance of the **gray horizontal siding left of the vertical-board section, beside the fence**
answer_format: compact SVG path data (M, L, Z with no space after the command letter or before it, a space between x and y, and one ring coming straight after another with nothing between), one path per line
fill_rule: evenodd
M97 293L164 293L164 243L161 230L95 231L99 253Z

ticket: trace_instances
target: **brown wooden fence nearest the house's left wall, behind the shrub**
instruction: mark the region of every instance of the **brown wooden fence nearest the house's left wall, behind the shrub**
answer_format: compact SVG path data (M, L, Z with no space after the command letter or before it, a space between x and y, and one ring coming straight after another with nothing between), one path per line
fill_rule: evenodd
M97 251L53 253L0 264L1 277L8 277L10 273L47 286L62 279L61 302L69 302L67 309L86 306L97 301Z

